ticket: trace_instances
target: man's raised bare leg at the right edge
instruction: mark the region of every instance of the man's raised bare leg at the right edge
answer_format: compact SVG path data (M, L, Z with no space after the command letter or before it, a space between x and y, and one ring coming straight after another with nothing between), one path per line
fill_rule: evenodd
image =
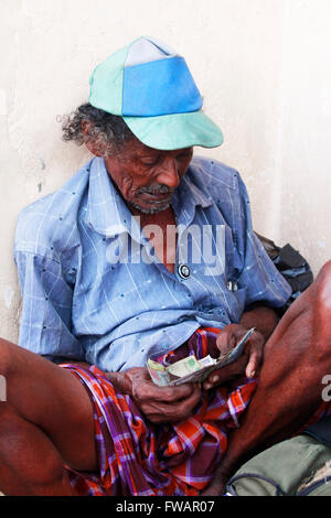
M268 339L256 393L204 494L220 495L248 457L305 425L322 403L325 374L331 374L331 261Z

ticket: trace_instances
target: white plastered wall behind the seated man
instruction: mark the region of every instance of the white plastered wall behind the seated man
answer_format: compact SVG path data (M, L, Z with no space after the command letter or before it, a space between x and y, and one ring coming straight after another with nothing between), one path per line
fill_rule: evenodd
M255 229L291 242L314 272L330 258L330 0L1 0L0 335L18 338L12 260L19 211L88 159L56 116L88 96L94 66L148 34L183 54L224 131Z

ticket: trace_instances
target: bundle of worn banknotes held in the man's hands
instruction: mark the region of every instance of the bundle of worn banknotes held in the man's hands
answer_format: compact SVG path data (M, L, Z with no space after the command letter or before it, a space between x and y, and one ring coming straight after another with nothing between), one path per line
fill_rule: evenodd
M212 358L210 355L202 359L196 359L194 355L180 359L167 367L149 358L147 368L154 384L161 387L173 387L182 384L194 384L206 379L213 370L225 367L235 361L244 352L245 342L252 335L255 327L252 327L228 353Z

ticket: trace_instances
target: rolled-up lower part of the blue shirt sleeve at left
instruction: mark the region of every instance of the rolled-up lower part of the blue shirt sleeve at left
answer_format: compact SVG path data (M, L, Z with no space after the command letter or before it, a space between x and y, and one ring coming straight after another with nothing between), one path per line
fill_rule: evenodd
M14 260L22 293L19 345L53 361L84 360L72 332L73 289L61 263L25 251L15 251Z

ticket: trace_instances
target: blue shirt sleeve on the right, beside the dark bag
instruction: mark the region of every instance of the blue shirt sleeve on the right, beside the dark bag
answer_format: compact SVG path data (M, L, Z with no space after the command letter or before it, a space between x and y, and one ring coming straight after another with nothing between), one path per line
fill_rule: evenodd
M241 179L239 191L241 231L238 245L241 253L244 256L244 267L238 283L246 288L246 306L263 301L270 306L281 307L290 298L291 288L279 273L253 230L249 198Z

